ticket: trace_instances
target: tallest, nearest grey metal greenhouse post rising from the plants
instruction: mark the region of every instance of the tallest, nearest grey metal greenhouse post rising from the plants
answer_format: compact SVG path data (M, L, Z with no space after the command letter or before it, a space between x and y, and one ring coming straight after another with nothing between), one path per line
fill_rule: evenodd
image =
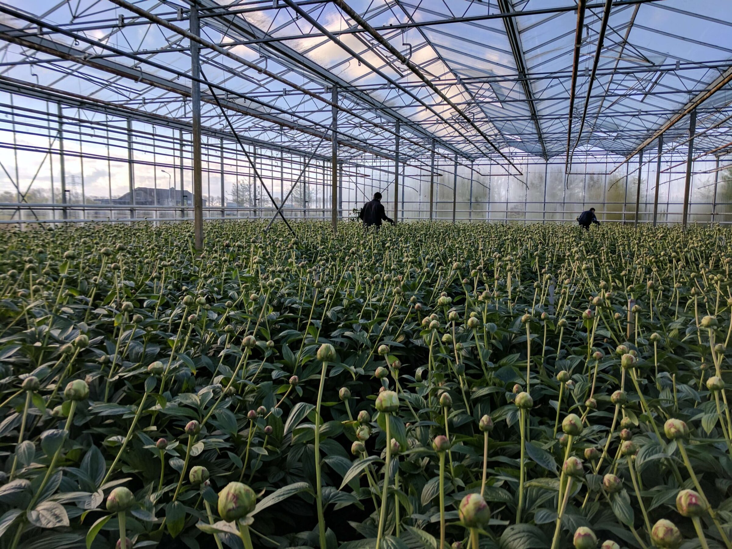
M191 34L201 34L198 24L197 1L193 0L190 6L188 25ZM196 250L203 249L203 163L201 162L201 84L198 78L201 75L201 58L198 42L190 41L190 103L193 128L193 241Z

